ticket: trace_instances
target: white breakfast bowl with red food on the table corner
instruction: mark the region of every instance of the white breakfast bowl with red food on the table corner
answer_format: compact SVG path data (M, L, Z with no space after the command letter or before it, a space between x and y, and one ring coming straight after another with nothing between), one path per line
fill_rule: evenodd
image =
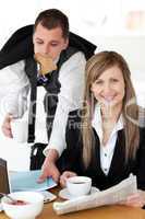
M36 192L15 192L9 194L16 201L11 201L7 196L1 204L5 215L11 219L35 219L44 207L44 196Z

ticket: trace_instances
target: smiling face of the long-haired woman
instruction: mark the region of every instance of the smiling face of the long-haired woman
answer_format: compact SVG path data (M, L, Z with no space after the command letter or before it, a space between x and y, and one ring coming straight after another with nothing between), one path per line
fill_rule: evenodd
M110 67L92 84L90 90L101 105L122 104L125 91L122 71L117 66Z

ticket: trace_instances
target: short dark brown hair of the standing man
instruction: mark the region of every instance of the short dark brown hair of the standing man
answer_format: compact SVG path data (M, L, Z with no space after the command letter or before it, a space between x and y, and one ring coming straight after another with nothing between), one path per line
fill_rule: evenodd
M63 38L69 37L68 16L58 9L49 9L40 12L35 21L34 32L39 23L48 30L61 27Z

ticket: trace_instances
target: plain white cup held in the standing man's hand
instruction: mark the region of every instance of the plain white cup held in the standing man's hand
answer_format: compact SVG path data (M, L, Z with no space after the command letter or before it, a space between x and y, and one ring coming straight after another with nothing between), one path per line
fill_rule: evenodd
M15 118L11 120L11 129L13 139L16 142L23 143L27 142L28 136L28 123L27 120Z

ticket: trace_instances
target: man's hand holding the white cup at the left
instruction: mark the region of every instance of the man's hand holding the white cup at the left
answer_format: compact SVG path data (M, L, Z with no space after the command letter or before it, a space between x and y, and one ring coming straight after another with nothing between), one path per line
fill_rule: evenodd
M9 138L13 138L12 136L12 129L11 129L11 120L12 120L12 116L10 114L8 114L3 120L2 124L2 132L4 134L4 136L9 137Z

